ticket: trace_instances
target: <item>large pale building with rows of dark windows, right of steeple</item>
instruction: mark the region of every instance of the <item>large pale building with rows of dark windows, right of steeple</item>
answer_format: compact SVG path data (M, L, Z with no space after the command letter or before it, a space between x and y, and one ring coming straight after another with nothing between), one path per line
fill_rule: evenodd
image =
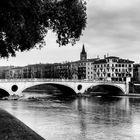
M126 81L133 78L133 61L110 56L93 63L94 80Z

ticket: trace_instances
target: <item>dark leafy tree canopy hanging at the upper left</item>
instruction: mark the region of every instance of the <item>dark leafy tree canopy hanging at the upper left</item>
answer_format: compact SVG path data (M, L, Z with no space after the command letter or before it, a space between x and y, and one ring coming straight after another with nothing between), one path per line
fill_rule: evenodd
M0 0L0 57L43 46L50 29L60 46L74 44L86 18L84 0Z

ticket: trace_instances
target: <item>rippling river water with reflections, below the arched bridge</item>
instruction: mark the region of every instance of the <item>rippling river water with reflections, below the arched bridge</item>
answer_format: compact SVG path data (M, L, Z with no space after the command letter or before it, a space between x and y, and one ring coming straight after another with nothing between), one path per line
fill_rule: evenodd
M0 101L0 107L46 140L140 140L138 97L48 96Z

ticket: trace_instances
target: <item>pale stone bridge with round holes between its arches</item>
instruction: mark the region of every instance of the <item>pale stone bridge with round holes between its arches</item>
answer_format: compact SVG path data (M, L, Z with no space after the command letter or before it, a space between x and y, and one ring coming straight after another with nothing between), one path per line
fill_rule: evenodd
M129 84L127 82L111 82L111 81L89 81L89 80L67 80L67 79L3 79L0 80L0 89L9 95L22 95L22 92L36 85L55 85L67 91L73 91L76 94L84 94L89 88L101 86L111 92L116 90L123 94L128 94Z

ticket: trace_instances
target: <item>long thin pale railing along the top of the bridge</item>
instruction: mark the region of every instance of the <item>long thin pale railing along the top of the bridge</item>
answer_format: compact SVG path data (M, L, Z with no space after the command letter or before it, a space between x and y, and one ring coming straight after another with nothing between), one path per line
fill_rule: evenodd
M123 81L89 80L89 79L46 79L46 78L25 78L25 79L0 79L0 82L84 82L84 83L118 83L125 84Z

